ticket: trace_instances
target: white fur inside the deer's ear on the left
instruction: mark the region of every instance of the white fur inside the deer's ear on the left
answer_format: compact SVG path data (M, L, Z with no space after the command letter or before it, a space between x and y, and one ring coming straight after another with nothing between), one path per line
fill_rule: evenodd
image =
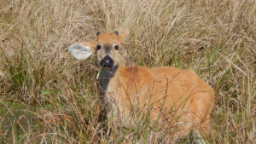
M78 60L84 60L92 54L90 46L83 46L79 43L72 44L67 50Z

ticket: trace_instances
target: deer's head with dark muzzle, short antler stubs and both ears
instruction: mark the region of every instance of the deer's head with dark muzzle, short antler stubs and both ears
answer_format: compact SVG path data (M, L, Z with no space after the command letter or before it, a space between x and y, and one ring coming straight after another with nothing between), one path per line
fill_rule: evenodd
M96 65L111 70L124 62L121 44L129 34L128 27L122 27L113 33L96 32L96 40L92 42L74 43L67 50L78 60L84 60L90 55L96 55Z

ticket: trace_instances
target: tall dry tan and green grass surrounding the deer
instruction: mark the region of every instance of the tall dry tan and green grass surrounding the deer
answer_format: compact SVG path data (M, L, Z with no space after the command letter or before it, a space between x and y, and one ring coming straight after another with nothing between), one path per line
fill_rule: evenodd
M1 143L171 142L147 118L126 129L104 118L93 58L67 54L126 20L130 63L191 68L212 85L209 143L256 141L254 0L0 0Z

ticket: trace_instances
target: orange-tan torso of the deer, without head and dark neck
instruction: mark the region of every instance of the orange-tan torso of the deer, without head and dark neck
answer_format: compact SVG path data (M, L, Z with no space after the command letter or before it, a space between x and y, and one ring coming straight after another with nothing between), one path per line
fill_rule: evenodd
M195 72L174 67L119 67L110 84L119 109L150 108L157 116L177 122L202 123L212 112L212 88ZM117 100L118 99L118 100Z

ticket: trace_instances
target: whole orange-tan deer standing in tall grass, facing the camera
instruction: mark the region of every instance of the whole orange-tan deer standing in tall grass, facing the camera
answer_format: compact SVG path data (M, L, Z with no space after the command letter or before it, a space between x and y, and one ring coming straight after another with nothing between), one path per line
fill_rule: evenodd
M199 137L209 135L215 100L212 87L193 70L125 66L126 49L122 44L129 33L127 26L112 33L96 32L95 40L74 43L67 48L78 60L95 55L99 68L98 95L108 118L129 123L136 112L144 110L150 113L150 122L167 122L172 125L168 129L175 128L177 135L189 135L192 130L196 130Z

